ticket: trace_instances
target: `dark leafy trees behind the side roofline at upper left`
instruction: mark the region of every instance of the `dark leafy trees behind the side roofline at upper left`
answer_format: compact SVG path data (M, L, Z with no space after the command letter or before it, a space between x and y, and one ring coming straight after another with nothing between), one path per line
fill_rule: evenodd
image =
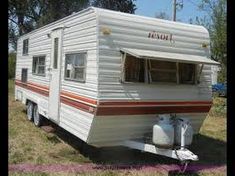
M8 40L14 49L19 36L89 5L89 0L9 0Z

